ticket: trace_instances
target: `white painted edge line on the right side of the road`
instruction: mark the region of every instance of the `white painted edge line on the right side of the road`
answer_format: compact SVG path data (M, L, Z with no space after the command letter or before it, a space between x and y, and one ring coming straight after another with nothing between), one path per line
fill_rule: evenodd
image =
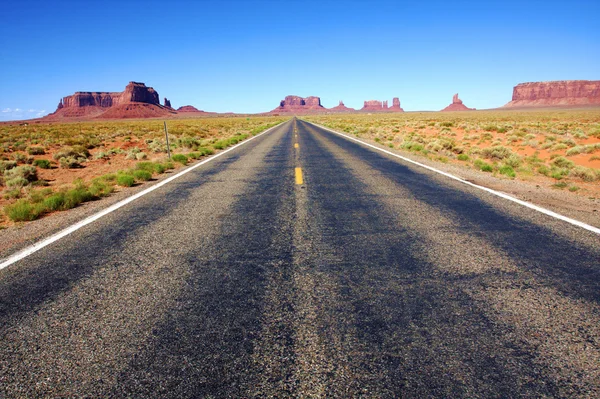
M406 162L409 162L409 163L412 163L414 165L420 166L422 168L428 169L428 170L430 170L432 172L439 173L440 175L449 177L450 179L457 180L457 181L459 181L459 182L461 182L463 184L466 184L468 186L475 187L475 188L478 188L480 190L486 191L486 192L488 192L490 194L496 195L496 196L498 196L500 198L504 198L504 199L507 199L509 201L516 202L519 205L522 205L522 206L527 207L529 209L533 209L535 211L538 211L538 212L543 213L545 215L551 216L553 218L560 219L560 220L565 221L567 223L570 223L570 224L572 224L574 226L581 227L582 229L586 229L588 231L591 231L592 233L600 234L600 229L599 228L594 227L594 226L590 226L589 224L580 222L579 220L571 219L571 218L569 218L567 216L563 216L563 215L561 215L559 213L556 213L556 212L553 212L553 211L551 211L549 209L542 208L541 206L537 206L537 205L534 205L534 204L532 204L530 202L526 202L526 201L520 200L518 198L515 198L513 196L510 196L508 194L492 190L491 188L487 188L487 187L484 187L484 186L477 185L475 183L471 183L470 181L461 179L460 177L454 176L454 175L452 175L450 173L443 172L441 170L438 170L436 168L432 168L431 166L427 166L427 165L422 164L422 163L417 162L417 161L413 161L412 159L403 157L402 155L395 154L395 153L393 153L391 151L388 151L388 150L385 150L383 148L379 148L379 147L377 147L377 146L375 146L373 144L365 143L364 141L359 140L359 139L357 139L355 137L348 136L348 135L346 135L344 133L336 132L335 130L329 129L328 127L325 127L325 126L321 126L321 125L319 125L317 123L312 123L312 122L308 122L308 121L305 121L305 122L310 123L310 124L315 125L315 126L318 126L318 127L322 128L322 129L325 129L325 130L327 130L327 131L329 131L331 133L335 133L335 134L337 134L339 136L345 137L345 138L347 138L349 140L356 141L358 143L361 143L363 145L371 147L371 148L373 148L373 149L375 149L377 151L384 152L384 153L386 153L388 155L391 155L393 157L400 158L400 159L402 159L402 160L404 160Z

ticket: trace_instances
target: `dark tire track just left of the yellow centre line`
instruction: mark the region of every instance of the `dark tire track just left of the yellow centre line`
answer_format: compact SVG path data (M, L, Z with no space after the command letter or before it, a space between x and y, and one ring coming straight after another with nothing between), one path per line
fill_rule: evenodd
M113 395L262 397L278 383L288 389L278 369L293 361L283 324L287 293L273 286L292 263L285 228L291 221L281 220L293 206L292 175L280 170L288 141L269 151L215 240L187 255L190 276L177 305L121 373Z

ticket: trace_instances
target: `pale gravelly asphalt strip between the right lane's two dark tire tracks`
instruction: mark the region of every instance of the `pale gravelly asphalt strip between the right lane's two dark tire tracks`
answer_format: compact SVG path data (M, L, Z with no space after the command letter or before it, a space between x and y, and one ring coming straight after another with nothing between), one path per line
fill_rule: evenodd
M355 176L378 194L390 213L408 222L426 246L423 259L498 323L509 326L534 350L535 362L552 377L560 396L600 395L600 307L574 300L540 276L519 268L502 249L461 229L444 214L413 198L410 190L318 137ZM376 187L376 189L375 189ZM435 250L433 250L435 249Z

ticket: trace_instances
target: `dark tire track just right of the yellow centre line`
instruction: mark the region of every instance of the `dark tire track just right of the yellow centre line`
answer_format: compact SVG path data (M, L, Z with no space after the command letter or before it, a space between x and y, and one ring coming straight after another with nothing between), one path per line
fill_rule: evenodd
M337 282L341 302L352 306L335 319L357 332L353 355L366 392L349 396L554 395L556 387L533 361L531 348L449 285L419 256L429 250L420 235L379 205L315 137L303 137L305 151L315 152L304 162L312 220L342 259L318 269ZM336 311L322 310L330 316Z

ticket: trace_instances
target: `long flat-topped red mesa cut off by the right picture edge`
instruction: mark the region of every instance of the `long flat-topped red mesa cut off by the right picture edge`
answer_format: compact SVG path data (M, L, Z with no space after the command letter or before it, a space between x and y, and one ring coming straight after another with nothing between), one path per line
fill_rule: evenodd
M600 106L600 80L519 83L504 107Z

